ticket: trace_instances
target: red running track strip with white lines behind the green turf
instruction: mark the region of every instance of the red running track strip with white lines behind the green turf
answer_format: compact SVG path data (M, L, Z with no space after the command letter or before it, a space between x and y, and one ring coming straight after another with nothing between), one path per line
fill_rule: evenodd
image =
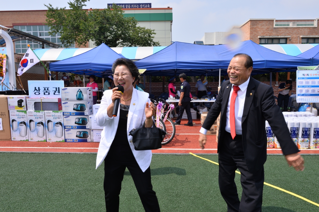
M153 153L162 154L217 154L217 142L215 135L207 136L207 144L202 150L198 144L200 120L194 120L193 127L184 126L187 120L184 119L181 125L176 126L176 134L170 143L163 145L159 150L152 150ZM0 152L56 152L56 153L96 153L99 143L60 143L60 142L27 142L27 141L0 141ZM269 148L268 154L282 154L280 149ZM301 150L301 154L319 154L318 150Z

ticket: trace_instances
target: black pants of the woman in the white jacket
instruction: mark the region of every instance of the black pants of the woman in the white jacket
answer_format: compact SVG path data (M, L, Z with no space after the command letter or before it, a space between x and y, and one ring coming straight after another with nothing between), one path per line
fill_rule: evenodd
M142 172L137 162L120 164L106 159L104 161L104 192L107 212L118 212L122 180L127 167L133 178L138 195L146 212L159 212L159 203L151 182L151 169Z

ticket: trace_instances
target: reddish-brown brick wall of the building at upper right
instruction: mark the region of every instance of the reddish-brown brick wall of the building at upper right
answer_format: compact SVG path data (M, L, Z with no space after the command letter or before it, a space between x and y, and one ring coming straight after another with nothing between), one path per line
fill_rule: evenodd
M288 35L287 44L301 44L300 35L319 35L319 27L274 27L274 20L249 20L241 26L243 40L259 44L258 36Z

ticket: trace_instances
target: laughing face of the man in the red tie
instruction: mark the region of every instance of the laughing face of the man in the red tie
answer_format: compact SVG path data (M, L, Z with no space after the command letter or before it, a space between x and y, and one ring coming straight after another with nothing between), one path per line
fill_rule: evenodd
M244 56L233 57L227 69L231 84L241 85L246 82L250 76L253 67L245 67L246 58Z

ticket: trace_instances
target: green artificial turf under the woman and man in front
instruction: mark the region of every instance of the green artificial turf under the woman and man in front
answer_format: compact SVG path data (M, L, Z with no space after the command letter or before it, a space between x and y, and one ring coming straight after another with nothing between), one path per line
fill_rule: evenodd
M217 155L201 157L218 161ZM265 182L319 203L319 156L303 156L306 169L296 172L283 156L268 156ZM95 170L96 154L0 153L0 211L105 211L104 165ZM218 165L191 155L153 155L153 189L161 211L226 212L219 193ZM235 177L241 196L240 175ZM144 211L126 170L120 211ZM264 185L263 212L309 212L319 207Z

